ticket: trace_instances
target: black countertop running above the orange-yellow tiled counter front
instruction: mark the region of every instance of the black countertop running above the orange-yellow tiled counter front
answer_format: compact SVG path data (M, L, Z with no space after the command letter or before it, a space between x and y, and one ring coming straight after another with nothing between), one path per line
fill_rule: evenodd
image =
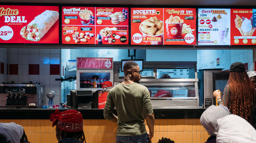
M59 109L60 112L66 109ZM83 119L104 119L103 109L74 109ZM155 119L200 119L205 109L154 109ZM0 109L0 119L50 119L55 109ZM114 110L116 114L116 110Z

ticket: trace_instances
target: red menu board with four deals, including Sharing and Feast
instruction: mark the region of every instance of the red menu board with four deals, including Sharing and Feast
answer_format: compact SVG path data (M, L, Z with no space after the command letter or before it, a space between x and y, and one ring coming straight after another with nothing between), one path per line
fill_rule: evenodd
M128 10L62 7L62 44L128 44Z

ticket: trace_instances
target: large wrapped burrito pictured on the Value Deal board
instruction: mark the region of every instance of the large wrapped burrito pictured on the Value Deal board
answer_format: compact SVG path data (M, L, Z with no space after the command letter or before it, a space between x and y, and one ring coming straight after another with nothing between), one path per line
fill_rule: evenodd
M32 22L24 26L20 31L20 35L26 40L39 41L58 19L59 12L45 10L36 16Z

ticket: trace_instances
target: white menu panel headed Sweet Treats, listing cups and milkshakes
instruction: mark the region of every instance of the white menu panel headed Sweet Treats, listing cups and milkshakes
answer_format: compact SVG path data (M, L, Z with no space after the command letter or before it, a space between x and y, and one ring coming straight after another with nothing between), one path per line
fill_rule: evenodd
M230 9L198 8L198 45L230 45Z

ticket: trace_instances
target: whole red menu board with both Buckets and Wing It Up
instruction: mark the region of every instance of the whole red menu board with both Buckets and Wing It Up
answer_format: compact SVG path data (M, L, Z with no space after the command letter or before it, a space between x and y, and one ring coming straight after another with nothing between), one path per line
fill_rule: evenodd
M196 8L131 8L132 45L195 45Z

